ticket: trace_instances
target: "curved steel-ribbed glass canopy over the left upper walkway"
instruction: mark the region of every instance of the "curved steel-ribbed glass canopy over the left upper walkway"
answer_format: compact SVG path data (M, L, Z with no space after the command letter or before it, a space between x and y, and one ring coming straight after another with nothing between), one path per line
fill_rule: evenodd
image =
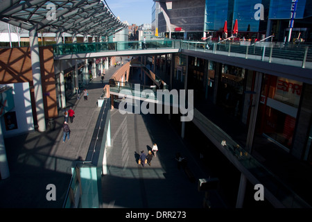
M117 19L105 1L3 0L0 20L28 31L66 32L109 36L127 26Z

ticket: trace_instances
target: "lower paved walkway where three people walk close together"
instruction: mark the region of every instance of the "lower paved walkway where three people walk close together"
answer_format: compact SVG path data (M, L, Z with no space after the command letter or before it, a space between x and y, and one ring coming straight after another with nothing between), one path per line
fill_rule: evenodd
M139 71L129 76L139 83ZM112 146L107 149L107 175L102 177L105 208L202 208L204 191L198 179L209 178L189 152L165 114L121 114L118 103L111 111ZM159 151L151 166L138 164L141 151L148 153L156 143ZM187 158L194 180L177 168L175 154ZM227 206L218 192L211 191L211 207Z

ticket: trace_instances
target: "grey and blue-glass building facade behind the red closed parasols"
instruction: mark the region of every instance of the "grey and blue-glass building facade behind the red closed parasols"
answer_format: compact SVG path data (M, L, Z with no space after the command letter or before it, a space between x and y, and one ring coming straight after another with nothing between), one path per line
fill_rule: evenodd
M274 35L275 41L289 42L288 34L292 28L289 40L311 41L310 0L293 3L279 0L157 0L152 14L153 30L158 27L161 35L184 40L200 40L209 36L217 40L225 37L225 27L229 37L236 19L239 27L237 37L246 40L261 40Z

